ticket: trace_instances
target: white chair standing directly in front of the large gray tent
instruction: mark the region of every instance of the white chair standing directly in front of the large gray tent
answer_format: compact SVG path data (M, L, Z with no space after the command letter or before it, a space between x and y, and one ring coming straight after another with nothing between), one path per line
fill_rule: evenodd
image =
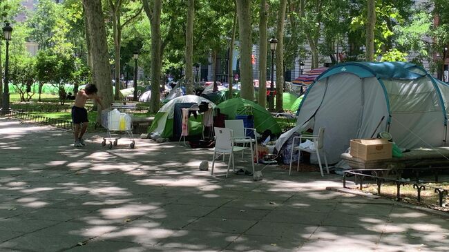
M292 152L290 154L290 169L289 169L289 175L292 173L292 161L293 161L293 152L294 151L305 151L308 153L316 153L316 156L318 157L318 164L320 165L320 171L321 176L324 176L323 174L323 166L321 165L321 155L324 156L324 162L326 165L327 174L329 174L329 166L327 166L327 159L326 159L326 153L323 149L323 139L324 139L324 132L326 128L320 128L318 130L318 135L301 135L299 137L293 137L293 143L292 143ZM295 140L299 139L298 145L295 146ZM311 150L309 148L303 148L300 147L300 144L303 139L310 139L312 142L314 142L315 149ZM298 156L298 166L296 166L296 171L299 171L299 161L300 161L300 155Z

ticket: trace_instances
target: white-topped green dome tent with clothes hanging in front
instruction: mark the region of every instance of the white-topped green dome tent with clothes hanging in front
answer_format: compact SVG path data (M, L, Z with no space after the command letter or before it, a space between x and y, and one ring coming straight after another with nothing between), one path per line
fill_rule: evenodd
M201 104L201 101L209 103L209 106L214 108L216 104L209 101L206 98L199 97L197 95L184 95L181 97L176 97L168 103L166 103L159 111L157 111L153 123L149 128L150 137L152 139L157 138L171 138L173 137L173 122L175 117L175 105L176 104ZM202 115L198 115L195 119L189 117L189 135L201 135L202 133Z

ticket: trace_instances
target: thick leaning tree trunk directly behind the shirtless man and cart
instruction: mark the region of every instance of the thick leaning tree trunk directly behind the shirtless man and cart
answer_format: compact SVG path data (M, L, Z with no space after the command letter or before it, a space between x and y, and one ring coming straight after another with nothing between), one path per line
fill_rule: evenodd
M102 105L109 108L113 102L111 83L111 67L109 66L108 44L101 0L83 0L90 32L93 73L96 79L98 95L102 97ZM101 123L101 106L97 108L97 123Z

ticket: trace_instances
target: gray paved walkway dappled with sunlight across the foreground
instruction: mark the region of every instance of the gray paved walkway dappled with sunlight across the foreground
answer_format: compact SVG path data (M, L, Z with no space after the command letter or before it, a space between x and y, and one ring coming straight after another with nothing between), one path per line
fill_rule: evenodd
M75 149L66 131L0 118L0 251L449 250L448 215L326 191L335 175L224 179L223 162L198 171L210 150L101 137Z

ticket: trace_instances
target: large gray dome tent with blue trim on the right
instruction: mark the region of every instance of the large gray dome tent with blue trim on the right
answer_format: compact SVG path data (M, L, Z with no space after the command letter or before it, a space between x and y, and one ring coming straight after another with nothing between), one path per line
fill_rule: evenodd
M280 150L294 131L318 132L321 127L326 127L329 163L340 160L350 139L375 137L380 131L390 132L403 148L444 146L448 101L449 86L414 64L339 64L310 86L298 108L296 127L281 135L276 148Z

